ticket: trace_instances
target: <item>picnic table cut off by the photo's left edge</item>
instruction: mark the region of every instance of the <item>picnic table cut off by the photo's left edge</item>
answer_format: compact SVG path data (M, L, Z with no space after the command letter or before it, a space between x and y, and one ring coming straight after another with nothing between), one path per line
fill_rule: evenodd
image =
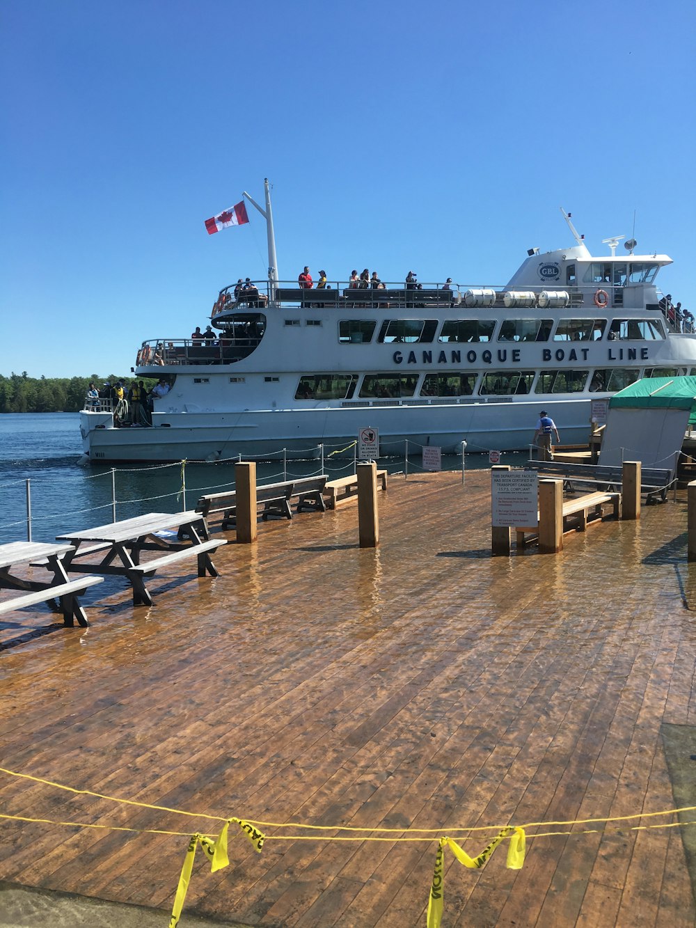
M87 586L103 583L104 577L71 580L65 567L65 559L71 550L70 545L38 541L12 541L0 545L0 589L21 590L24 594L0 602L0 614L24 609L37 602L46 602L54 612L63 613L64 625L71 627L75 619L84 627L89 625L78 597L82 596ZM42 559L42 566L53 573L48 583L29 580L13 573L17 568L39 559Z

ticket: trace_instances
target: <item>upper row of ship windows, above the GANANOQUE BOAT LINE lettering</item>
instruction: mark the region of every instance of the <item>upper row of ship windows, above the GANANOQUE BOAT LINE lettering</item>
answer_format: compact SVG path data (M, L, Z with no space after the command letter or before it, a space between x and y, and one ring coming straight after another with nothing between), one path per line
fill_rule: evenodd
M316 323L317 320L308 320ZM449 319L440 325L438 319L385 319L377 342L421 344L437 342L599 342L605 332L608 339L621 342L655 342L664 339L662 322L657 319L606 318L559 319ZM300 325L299 319L286 319L286 326ZM496 334L496 327L498 328ZM342 319L339 322L339 342L366 344L372 342L377 322L370 319Z

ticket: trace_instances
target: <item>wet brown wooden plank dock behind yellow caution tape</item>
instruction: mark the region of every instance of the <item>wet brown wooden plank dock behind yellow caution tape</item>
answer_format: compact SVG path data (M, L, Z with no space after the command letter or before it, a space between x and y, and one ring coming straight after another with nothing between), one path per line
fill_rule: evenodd
M227 535L217 578L157 574L151 608L107 578L84 597L88 629L43 606L0 624L2 767L223 818L436 830L362 843L265 827L260 855L238 837L214 874L199 851L183 928L187 913L424 925L435 836L453 828L487 827L458 834L475 856L508 822L696 806L684 493L589 542L566 536L554 557L509 558L490 554L488 471L464 487L451 472L393 477L379 497L377 549L358 548L356 506L304 512L260 525L251 546ZM6 774L0 812L185 834L221 824ZM696 825L630 830L676 820L531 828L522 870L505 869L504 849L483 870L445 853L443 925L693 926ZM2 828L0 880L171 911L186 837Z

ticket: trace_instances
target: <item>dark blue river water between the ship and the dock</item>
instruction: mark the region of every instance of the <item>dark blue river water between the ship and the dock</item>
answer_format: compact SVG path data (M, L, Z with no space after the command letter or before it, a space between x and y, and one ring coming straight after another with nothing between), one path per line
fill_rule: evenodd
M418 473L420 453L409 454L408 472ZM32 497L32 539L53 541L63 532L101 525L112 519L112 486L115 487L116 517L127 519L143 512L173 512L183 508L179 465L153 467L132 464L116 468L81 467L80 418L78 413L10 413L0 415L0 542L27 537L27 491ZM504 455L503 463L516 463L522 456ZM380 461L391 472L404 470L404 458ZM487 456L467 455L466 467L489 467ZM461 458L443 458L443 470L459 470ZM327 460L327 473L342 477L353 472L353 462ZM277 463L258 465L259 482L284 477L282 456ZM320 473L317 460L290 461L288 477ZM234 483L233 464L188 464L186 505L194 509L201 491L223 492Z

